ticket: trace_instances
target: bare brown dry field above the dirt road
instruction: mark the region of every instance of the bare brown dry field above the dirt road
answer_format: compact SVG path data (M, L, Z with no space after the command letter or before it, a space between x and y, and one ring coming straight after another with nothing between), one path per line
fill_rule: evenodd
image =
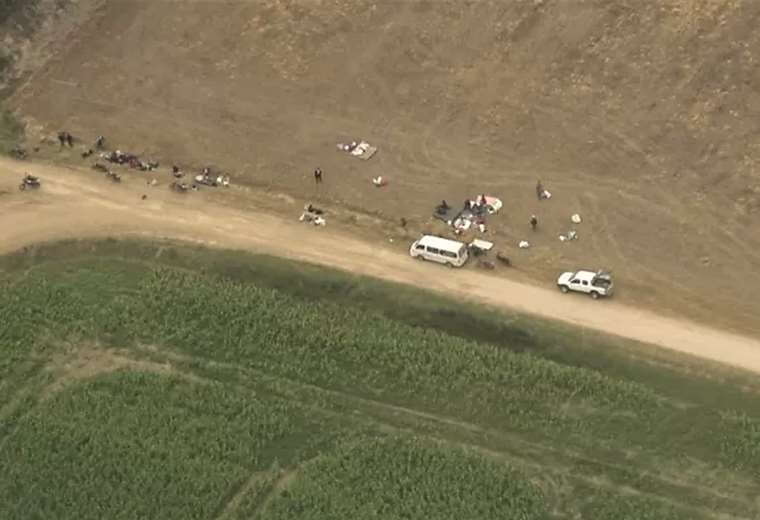
M386 227L491 193L497 245L533 243L512 251L522 275L605 266L620 298L747 330L759 15L754 0L106 1L12 104L32 136L104 134ZM351 137L380 152L339 154ZM575 212L580 240L562 244Z

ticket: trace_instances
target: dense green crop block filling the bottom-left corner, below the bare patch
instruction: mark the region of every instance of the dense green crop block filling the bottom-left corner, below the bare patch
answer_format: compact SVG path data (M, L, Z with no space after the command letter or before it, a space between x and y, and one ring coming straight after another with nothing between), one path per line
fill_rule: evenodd
M0 518L212 518L297 412L218 384L102 376L31 410L0 445Z

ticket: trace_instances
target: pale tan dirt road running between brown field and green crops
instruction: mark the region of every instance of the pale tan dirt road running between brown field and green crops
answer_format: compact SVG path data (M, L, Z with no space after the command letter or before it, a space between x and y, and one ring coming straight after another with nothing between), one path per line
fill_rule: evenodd
M43 180L19 192L24 171ZM377 243L331 227L286 221L237 204L219 204L212 190L180 195L130 177L122 184L101 175L55 166L0 160L0 252L34 242L132 235L201 242L323 264L413 284L490 305L558 319L760 372L760 341L663 318L617 301L595 302L470 270L412 261ZM141 200L141 195L148 195Z

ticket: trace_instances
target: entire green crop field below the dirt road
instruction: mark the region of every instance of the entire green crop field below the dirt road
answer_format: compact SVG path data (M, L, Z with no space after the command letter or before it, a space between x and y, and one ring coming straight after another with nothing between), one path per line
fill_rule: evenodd
M179 244L0 280L3 519L760 517L740 373Z

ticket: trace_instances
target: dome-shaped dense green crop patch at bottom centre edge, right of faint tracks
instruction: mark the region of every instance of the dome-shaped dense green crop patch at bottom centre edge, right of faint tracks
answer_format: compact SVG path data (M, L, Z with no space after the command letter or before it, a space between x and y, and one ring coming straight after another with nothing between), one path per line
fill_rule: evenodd
M301 469L261 518L547 518L538 488L503 463L409 437L366 439Z

